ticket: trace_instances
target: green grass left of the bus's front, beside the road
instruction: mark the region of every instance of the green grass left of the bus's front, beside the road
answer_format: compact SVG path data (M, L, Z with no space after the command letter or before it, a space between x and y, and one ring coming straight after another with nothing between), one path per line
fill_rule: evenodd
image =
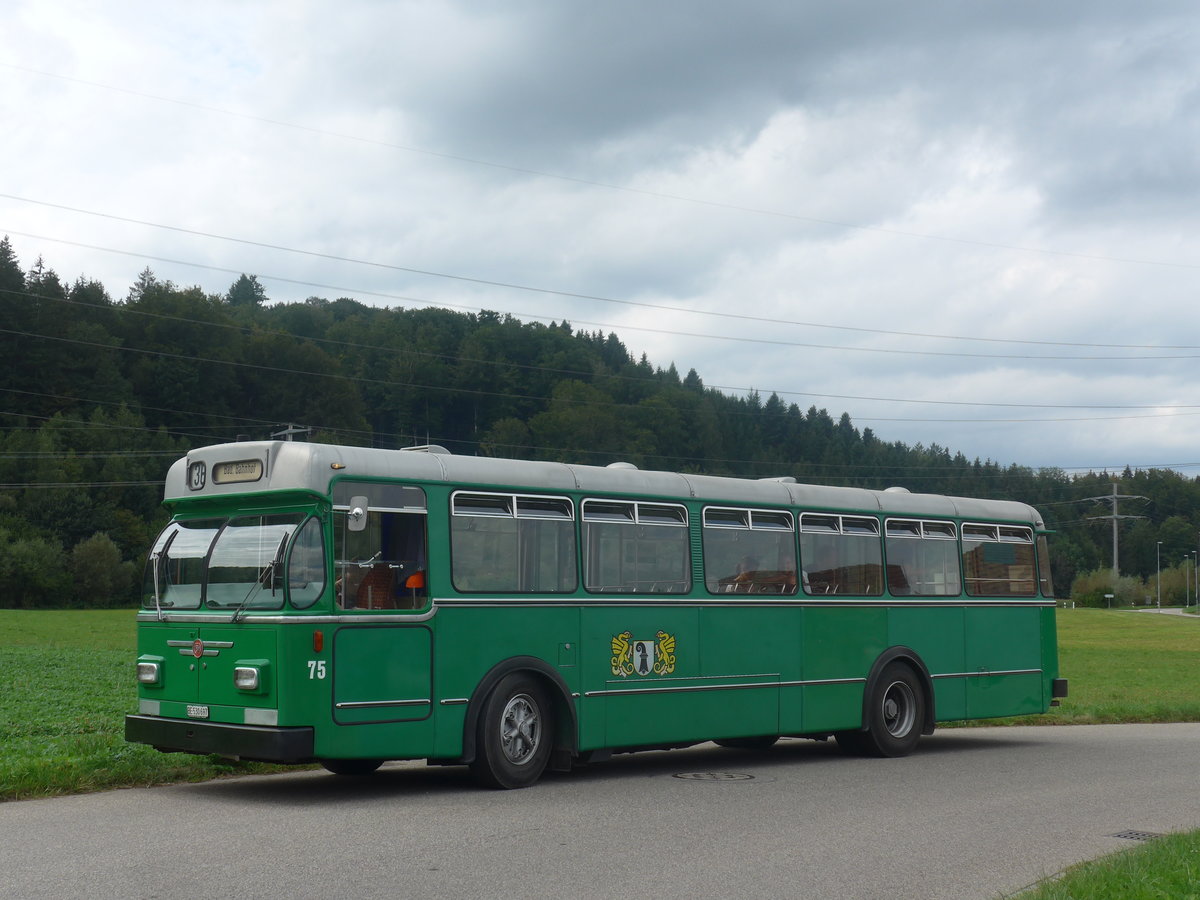
M132 610L0 610L0 800L278 770L125 743Z

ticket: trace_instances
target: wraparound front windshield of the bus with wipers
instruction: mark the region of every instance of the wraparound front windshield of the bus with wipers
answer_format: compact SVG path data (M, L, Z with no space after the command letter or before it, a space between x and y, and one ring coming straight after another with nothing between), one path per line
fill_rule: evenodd
M305 521L302 512L238 516L230 520L172 522L158 535L146 564L143 606L172 610L277 610L283 606L288 542ZM317 520L312 520L314 523ZM313 566L313 548L320 542L319 524L305 528L298 542L293 566ZM319 547L317 554L323 558ZM316 600L324 577L307 576L299 588L308 606ZM318 587L319 583L319 587ZM293 586L295 588L295 586Z

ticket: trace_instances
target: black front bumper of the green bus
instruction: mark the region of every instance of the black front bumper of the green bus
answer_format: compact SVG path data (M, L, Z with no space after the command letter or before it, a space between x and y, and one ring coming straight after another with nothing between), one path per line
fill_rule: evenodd
M258 762L312 762L311 727L224 725L156 715L125 716L125 739L163 752L220 754Z

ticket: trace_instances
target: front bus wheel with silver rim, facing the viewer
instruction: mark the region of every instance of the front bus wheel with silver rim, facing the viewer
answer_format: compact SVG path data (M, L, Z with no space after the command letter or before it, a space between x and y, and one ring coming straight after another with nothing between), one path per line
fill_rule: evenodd
M553 742L553 710L541 682L514 672L484 701L470 772L487 787L528 787L546 770Z

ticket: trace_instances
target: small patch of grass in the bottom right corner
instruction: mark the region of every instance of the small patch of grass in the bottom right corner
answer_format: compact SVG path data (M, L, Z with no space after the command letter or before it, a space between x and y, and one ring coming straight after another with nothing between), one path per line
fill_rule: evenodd
M1200 900L1200 832L1080 863L1009 900Z

